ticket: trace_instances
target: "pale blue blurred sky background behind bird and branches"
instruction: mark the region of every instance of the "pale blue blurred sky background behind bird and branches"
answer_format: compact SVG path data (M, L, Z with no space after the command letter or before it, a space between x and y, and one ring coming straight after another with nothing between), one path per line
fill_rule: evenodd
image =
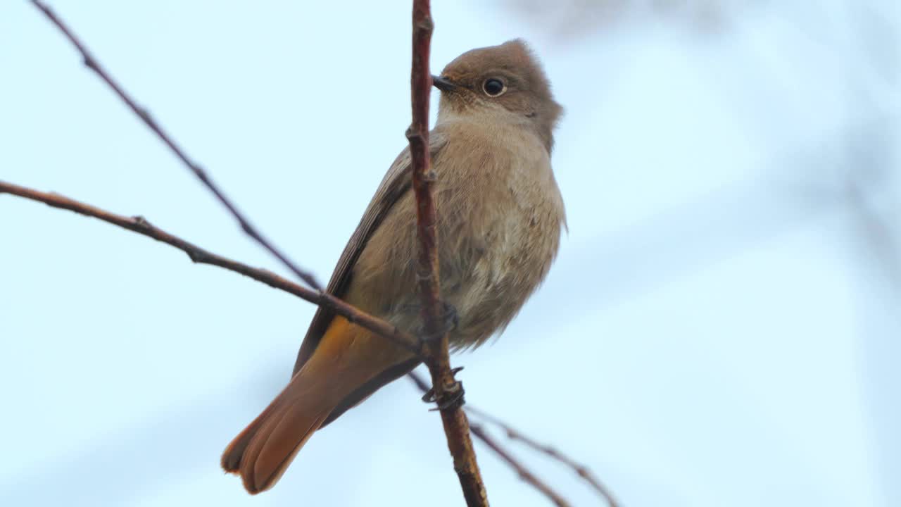
M405 146L409 2L51 4L328 279ZM523 37L567 110L569 235L504 336L455 357L468 400L629 507L901 505L898 3L433 4L433 69ZM0 179L284 272L26 2L0 6L0 65ZM10 196L0 266L3 505L462 504L406 380L317 433L274 490L223 474L312 305ZM547 504L478 456L493 504Z

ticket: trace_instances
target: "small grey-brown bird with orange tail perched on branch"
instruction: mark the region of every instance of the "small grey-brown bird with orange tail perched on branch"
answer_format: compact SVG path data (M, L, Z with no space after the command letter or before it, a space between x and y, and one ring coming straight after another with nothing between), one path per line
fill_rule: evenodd
M463 53L433 77L441 90L430 135L441 298L455 309L455 349L478 346L510 322L551 268L565 226L551 171L561 108L523 41ZM421 325L416 225L406 149L376 190L341 253L328 291L396 327ZM226 447L222 466L244 487L272 487L317 429L419 360L382 336L319 309L294 376Z

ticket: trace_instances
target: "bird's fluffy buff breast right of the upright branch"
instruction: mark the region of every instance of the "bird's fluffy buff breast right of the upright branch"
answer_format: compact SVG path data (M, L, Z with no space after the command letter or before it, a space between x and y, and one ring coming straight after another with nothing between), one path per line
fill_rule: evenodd
M454 138L436 166L441 290L459 313L457 346L506 326L551 267L564 219L542 143L519 129Z

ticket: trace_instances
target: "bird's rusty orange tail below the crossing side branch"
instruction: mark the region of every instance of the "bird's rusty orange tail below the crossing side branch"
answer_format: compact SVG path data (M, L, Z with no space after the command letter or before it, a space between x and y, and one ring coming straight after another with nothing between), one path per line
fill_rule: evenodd
M225 448L223 468L241 474L251 494L268 490L341 401L403 359L384 338L334 318L285 390Z

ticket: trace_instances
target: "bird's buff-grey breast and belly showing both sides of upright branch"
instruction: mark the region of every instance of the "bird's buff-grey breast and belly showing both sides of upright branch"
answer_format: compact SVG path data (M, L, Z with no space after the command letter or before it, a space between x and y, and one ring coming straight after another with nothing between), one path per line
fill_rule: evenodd
M458 313L452 343L475 346L505 327L550 269L560 244L562 199L550 157L535 136L479 125L442 134L448 141L432 161L441 297ZM411 330L420 315L417 246L408 191L354 270L356 297Z

